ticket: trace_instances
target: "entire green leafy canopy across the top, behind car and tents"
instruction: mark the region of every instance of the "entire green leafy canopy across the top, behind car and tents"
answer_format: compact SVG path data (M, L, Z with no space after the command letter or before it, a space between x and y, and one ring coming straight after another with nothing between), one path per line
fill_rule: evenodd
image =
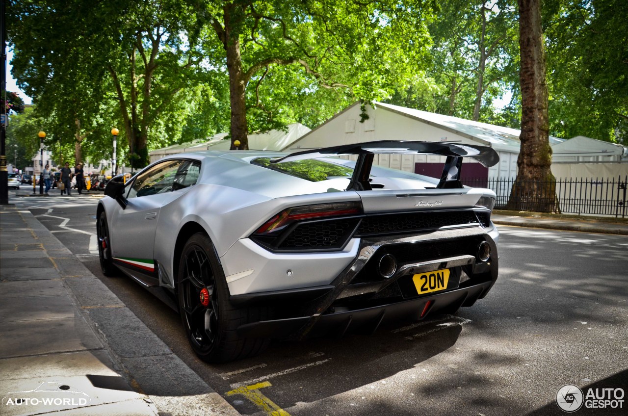
M626 143L628 3L543 7L550 133ZM315 128L357 100L467 119L479 101L479 121L520 127L514 0L8 0L6 20L13 75L35 103L9 129L44 129L57 162L74 161L77 140L85 161L111 159L114 126L119 163L135 167L229 131L234 43L250 133Z

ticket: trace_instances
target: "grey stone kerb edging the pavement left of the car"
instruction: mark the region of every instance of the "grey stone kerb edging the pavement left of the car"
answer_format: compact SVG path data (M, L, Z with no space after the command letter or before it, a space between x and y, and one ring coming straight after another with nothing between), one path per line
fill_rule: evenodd
M31 214L19 211L40 239L59 247L49 258L84 317L134 390L160 415L236 416L241 413L176 356L106 285ZM166 307L166 305L165 305Z

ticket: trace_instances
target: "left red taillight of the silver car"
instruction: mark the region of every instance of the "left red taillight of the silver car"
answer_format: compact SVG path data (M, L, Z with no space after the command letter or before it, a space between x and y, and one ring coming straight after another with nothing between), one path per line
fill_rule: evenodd
M360 202L338 202L336 204L304 205L284 209L259 227L255 234L274 233L286 227L291 222L304 219L318 219L324 217L342 217L362 214Z

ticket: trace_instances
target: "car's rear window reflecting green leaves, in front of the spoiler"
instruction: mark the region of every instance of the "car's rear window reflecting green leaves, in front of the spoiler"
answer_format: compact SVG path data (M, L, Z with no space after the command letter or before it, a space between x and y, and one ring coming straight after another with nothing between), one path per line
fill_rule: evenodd
M271 163L271 159L272 158L256 158L252 160L251 163L253 165L283 172L290 176L309 180L310 182L320 182L337 177L350 178L353 174L352 168L335 165L334 163L323 160L304 159Z

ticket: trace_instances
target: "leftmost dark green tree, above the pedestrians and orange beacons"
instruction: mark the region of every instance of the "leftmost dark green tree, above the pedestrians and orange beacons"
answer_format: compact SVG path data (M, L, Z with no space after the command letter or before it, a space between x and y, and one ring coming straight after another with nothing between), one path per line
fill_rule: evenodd
M76 163L82 162L81 143L95 127L104 94L103 70L94 65L97 52L82 44L86 11L84 4L70 1L20 1L9 7L13 75L35 97L36 114L47 123L40 128L56 131L57 145L72 146Z

